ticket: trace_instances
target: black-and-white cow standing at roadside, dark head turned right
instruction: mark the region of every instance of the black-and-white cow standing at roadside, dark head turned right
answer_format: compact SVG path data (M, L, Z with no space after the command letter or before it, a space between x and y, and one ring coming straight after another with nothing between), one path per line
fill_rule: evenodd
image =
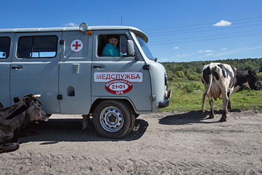
M209 117L214 118L214 102L217 98L223 99L223 113L220 121L226 121L228 108L231 109L230 95L237 91L240 86L246 85L247 87L255 90L260 89L259 78L256 75L257 70L242 71L237 70L228 64L210 63L204 65L202 69L202 82L205 85L205 92L202 100L202 110L205 111L205 101L208 95L211 112Z

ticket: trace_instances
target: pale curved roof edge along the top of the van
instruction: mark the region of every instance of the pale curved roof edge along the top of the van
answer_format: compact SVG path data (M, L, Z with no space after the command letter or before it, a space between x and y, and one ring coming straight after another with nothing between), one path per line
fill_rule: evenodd
M132 26L119 26L119 25L108 25L108 26L88 26L87 30L122 30L127 29L137 33L146 42L148 42L147 35L140 29ZM44 27L44 28L6 28L0 29L0 33L20 33L20 32L50 32L50 31L80 31L79 27Z

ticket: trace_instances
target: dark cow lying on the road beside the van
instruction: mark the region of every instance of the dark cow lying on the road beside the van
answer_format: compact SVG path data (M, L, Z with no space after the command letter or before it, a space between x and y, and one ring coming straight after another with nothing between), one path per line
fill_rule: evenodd
M19 148L18 137L22 128L30 122L47 121L41 103L35 99L40 95L25 95L13 98L14 104L0 108L0 153Z

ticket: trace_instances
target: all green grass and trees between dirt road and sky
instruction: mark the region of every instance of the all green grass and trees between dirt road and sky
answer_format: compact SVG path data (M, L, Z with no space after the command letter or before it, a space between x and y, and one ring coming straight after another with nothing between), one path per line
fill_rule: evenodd
M201 71L205 64L212 61L194 62L161 62L167 71L169 89L172 89L171 103L159 111L197 111L202 108L202 95L205 91L201 82ZM215 61L213 61L215 62ZM216 62L227 63L241 70L255 70L262 66L262 58L227 59ZM257 73L262 81L262 73ZM232 110L262 109L262 90L251 90L242 87L230 97ZM222 100L214 100L215 110L223 109ZM210 110L206 100L206 110Z

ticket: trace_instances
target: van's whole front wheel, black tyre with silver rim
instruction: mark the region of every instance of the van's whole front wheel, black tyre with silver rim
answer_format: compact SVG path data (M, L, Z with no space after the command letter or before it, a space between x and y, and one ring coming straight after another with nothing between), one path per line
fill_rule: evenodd
M106 138L121 138L135 125L135 112L124 101L105 100L94 109L93 122L99 134Z

